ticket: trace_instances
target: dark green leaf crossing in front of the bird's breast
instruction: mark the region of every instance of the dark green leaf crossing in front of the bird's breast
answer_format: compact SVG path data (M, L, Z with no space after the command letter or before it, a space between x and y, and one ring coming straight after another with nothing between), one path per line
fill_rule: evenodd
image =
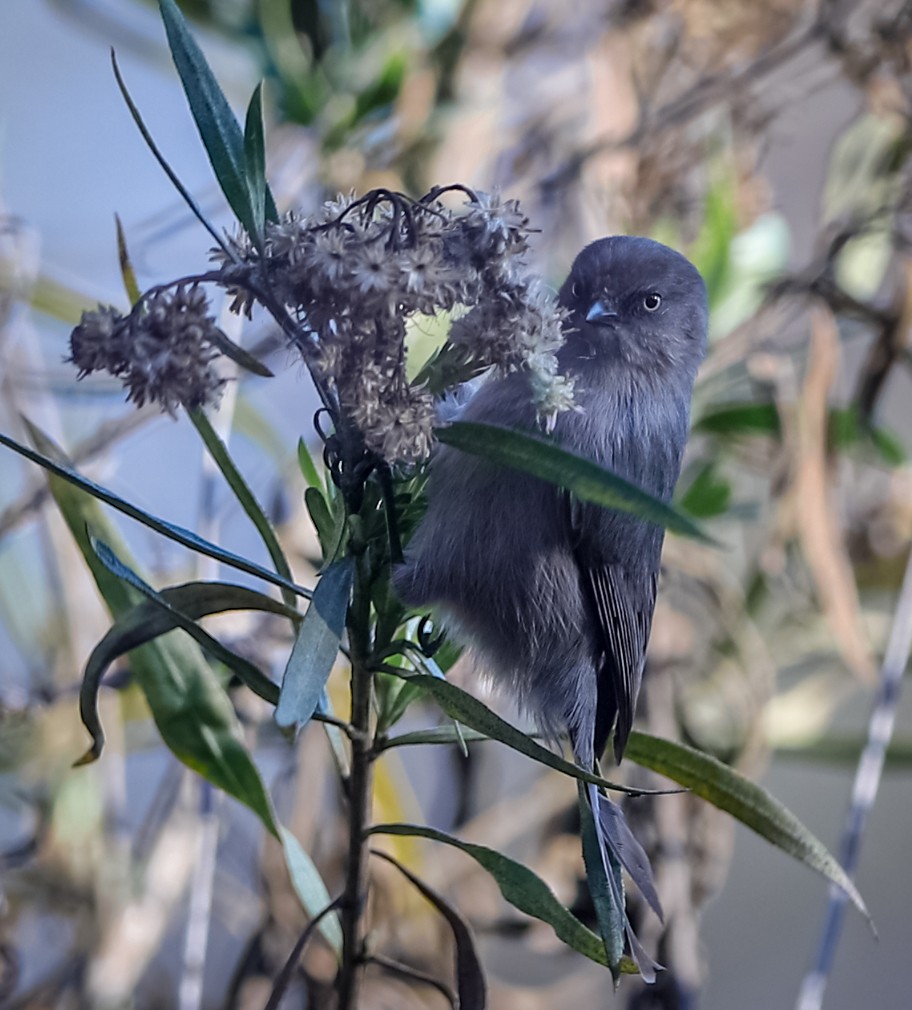
M673 532L712 542L692 519L674 506L592 460L569 452L539 435L477 421L455 421L445 428L436 428L435 434L447 445L556 484L583 501L630 512Z

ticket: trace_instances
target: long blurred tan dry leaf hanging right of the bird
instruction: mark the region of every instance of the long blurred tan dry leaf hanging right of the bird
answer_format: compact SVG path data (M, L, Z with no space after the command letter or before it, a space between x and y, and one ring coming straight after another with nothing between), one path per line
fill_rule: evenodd
M828 308L818 306L811 316L811 344L799 409L792 497L798 539L839 651L849 670L871 684L875 678L874 663L827 473L828 396L838 361L835 319Z

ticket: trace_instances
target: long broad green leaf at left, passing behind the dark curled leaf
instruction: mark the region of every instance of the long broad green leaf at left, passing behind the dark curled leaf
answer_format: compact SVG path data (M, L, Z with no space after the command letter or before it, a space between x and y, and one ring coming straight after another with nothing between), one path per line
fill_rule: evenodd
M33 425L29 429L43 453L66 461L43 432ZM128 557L126 548L118 542L117 531L91 495L53 471L47 484L105 604L117 619L135 606L138 594L105 568L92 548L87 530L91 527L101 533L122 558ZM184 636L149 641L133 650L130 669L166 746L188 768L257 814L270 834L282 843L292 883L307 912L316 915L324 909L329 904L326 887L310 856L279 824L246 748L237 715L196 642ZM337 916L326 916L319 928L338 954L341 931Z

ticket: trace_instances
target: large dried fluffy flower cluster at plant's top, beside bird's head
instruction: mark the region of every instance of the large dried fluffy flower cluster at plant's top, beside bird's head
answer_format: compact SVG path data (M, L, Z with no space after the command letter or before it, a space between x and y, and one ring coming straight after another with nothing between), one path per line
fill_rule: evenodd
M571 403L556 374L563 315L525 274L528 220L516 201L470 194L458 210L428 194L377 191L327 203L314 218L270 226L263 254L216 252L235 305L247 308L245 272L264 270L294 313L308 365L333 390L370 448L409 462L430 447L434 405L405 375L406 323L415 314L468 310L449 340L474 368L527 369L543 414Z

